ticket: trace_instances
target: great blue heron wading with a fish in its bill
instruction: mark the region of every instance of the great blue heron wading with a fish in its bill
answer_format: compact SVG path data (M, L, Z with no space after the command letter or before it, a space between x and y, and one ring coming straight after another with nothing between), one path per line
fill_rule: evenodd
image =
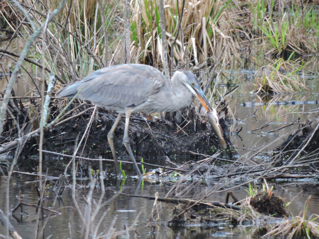
M123 64L94 71L83 80L64 87L56 96L72 98L80 91L78 98L90 100L95 105L119 113L108 133L108 142L118 177L121 176L121 171L113 144L113 134L125 113L123 144L134 163L138 177L141 178L142 174L132 153L128 134L132 113L179 111L193 102L193 95L207 111L213 110L193 73L187 70L177 70L171 83L170 88L165 76L152 66Z

